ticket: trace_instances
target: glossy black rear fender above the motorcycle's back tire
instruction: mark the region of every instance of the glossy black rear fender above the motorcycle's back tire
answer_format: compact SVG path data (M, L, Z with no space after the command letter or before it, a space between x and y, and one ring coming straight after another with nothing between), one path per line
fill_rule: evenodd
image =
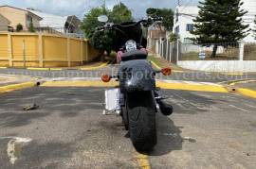
M126 92L155 90L155 71L147 59L121 61L119 66L120 90Z

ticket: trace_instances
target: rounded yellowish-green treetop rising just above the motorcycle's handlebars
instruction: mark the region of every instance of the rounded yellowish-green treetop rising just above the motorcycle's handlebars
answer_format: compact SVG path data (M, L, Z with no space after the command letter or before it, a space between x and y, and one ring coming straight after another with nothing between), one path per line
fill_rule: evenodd
M112 9L110 19L115 24L131 22L133 21L132 11L120 2Z

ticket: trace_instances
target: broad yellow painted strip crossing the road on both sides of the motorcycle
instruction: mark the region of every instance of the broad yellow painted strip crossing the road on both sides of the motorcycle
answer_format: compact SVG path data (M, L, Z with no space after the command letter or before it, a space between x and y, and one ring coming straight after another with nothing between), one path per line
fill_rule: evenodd
M99 81L47 81L41 86L44 87L114 87L118 86L119 82L110 81L104 83ZM211 92L211 93L229 93L228 90L223 86L213 85L194 85L194 84L183 84L183 83L167 83L156 81L156 86L161 89L169 90L181 90L181 91L198 91L198 92Z

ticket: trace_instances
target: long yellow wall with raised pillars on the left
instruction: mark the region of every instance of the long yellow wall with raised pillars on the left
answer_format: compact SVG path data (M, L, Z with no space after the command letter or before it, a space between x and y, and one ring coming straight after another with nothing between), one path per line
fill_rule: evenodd
M99 56L87 41L59 35L6 33L0 43L0 66L71 67Z

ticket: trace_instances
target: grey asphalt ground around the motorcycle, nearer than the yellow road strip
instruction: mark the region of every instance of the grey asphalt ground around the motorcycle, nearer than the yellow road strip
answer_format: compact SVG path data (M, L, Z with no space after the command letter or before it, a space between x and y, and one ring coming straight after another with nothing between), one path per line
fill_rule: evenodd
M34 87L1 94L1 168L255 168L256 101L233 93L163 91L152 152L136 152L103 88ZM26 111L33 103L39 109Z

